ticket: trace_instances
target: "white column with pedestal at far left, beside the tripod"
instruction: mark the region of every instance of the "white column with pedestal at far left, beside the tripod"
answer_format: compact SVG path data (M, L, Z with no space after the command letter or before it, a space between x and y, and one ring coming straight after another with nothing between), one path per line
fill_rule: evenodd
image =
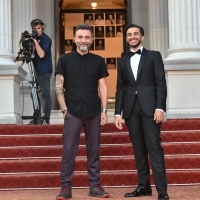
M20 83L26 72L12 53L11 0L0 1L0 124L21 124Z

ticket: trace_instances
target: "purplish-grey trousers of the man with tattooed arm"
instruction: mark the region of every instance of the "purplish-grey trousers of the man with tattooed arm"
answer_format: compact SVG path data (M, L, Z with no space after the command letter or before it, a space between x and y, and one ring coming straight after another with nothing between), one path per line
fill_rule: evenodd
M79 148L81 128L85 129L85 143L87 154L87 171L90 187L100 184L100 117L82 120L69 112L65 117L63 129L63 156L61 162L61 186L71 188L71 178L74 173L76 154Z

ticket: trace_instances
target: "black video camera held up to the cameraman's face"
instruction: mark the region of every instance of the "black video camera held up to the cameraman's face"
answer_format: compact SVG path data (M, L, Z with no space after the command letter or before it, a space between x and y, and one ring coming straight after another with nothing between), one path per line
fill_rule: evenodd
M32 33L29 33L28 31L24 31L21 34L21 44L22 44L22 57L26 62L30 62L31 58L35 57L34 54L34 41L37 37L37 31L33 30Z

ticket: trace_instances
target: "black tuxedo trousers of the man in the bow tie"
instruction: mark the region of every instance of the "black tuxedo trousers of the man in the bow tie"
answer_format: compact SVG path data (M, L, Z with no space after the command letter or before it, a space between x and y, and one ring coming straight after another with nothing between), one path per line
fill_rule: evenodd
M153 116L145 115L137 97L131 115L125 123L133 144L139 185L150 187L149 155L156 189L160 192L167 191L164 153L160 137L161 124L156 124Z

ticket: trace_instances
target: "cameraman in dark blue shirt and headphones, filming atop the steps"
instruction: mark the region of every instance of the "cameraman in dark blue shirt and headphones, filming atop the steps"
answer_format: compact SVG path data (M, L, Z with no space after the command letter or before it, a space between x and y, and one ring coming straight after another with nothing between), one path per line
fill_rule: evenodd
M44 99L44 116L42 124L49 124L51 114L51 94L50 79L52 75L52 58L51 58L51 39L44 33L45 24L40 19L31 21L32 30L37 31L37 37L32 38L34 41L33 63L37 75L37 81L42 91ZM33 119L29 124L37 124Z

